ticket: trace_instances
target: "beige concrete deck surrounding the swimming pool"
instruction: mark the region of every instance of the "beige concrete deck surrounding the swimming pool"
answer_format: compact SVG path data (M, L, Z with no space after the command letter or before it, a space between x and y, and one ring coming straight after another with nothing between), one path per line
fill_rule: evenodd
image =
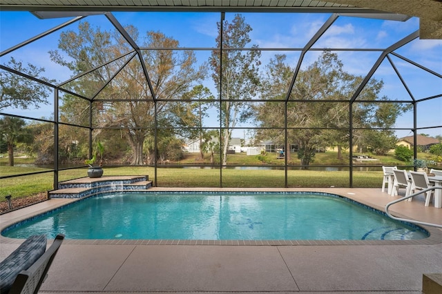
M151 190L248 190L183 189ZM280 188L343 195L379 208L397 199L381 188ZM1 228L71 202L51 199L0 215ZM431 205L431 204L430 204ZM413 202L392 212L442 224L442 208ZM421 293L424 273L442 273L442 230L411 242L305 242L234 246L209 242L170 243L71 240L61 245L39 293ZM50 244L50 241L48 244ZM0 237L3 259L23 240ZM170 245L173 244L173 245Z

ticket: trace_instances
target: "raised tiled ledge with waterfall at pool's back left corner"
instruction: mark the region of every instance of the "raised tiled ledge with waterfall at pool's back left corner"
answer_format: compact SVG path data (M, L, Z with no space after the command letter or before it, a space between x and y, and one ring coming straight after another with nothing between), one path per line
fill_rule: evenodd
M57 190L49 192L51 198L83 198L106 192L147 190L152 186L148 176L83 177L59 183Z

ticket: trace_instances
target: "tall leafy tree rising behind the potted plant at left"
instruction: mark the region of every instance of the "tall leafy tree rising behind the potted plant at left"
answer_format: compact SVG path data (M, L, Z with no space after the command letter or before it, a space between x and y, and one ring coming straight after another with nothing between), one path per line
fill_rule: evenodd
M114 42L113 42L114 41ZM50 59L55 63L65 66L73 72L73 76L83 74L88 70L93 72L88 75L81 76L68 84L64 84L61 88L66 88L79 95L95 98L94 95L111 79L119 63L114 62L107 66L100 66L110 59L118 57L118 52L114 50L115 39L112 38L110 32L102 31L100 28L93 28L87 21L81 22L78 25L78 30L66 30L61 32L58 41L59 50L51 50ZM61 52L64 54L61 54ZM66 55L69 59L66 59ZM112 91L109 88L105 90L106 95L111 97ZM61 92L62 93L62 92ZM75 95L64 93L60 96L60 118L61 121L66 121L70 124L79 126L89 126L90 116L93 117L93 126L103 127L98 125L97 121L102 121L99 117L102 112L109 106L101 101L90 104L87 99L81 99ZM97 137L102 133L102 129L98 128L93 132L93 141L97 141ZM77 155L70 154L70 146L72 141L78 142L77 150L81 150L81 156L86 159L89 157L88 151L88 135L84 134L81 129L76 128L59 128L59 157L61 160L71 160ZM106 144L107 145L107 144Z

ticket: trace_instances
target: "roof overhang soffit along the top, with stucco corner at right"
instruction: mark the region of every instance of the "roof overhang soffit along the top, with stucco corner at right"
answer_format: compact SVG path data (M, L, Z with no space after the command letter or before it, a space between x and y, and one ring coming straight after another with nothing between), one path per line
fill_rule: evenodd
M442 39L440 0L1 0L1 10L235 11L405 14L420 19L421 39Z

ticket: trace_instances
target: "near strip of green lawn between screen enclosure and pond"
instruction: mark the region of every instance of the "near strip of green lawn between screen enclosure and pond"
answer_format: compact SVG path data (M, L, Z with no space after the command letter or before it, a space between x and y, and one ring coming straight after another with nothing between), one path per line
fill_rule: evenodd
M75 170L61 170L59 181L87 176L86 168ZM120 167L104 168L104 175L148 175L155 180L153 168L148 167ZM267 188L284 187L284 170L233 170L223 169L222 187L247 187ZM23 175L1 179L0 195L23 197L34 195L47 190L52 190L52 173L37 175ZM354 186L380 187L382 183L381 172L354 172ZM289 170L287 172L289 187L348 187L349 172L347 171L315 171L315 170ZM219 187L219 169L201 168L158 168L157 186L170 187ZM3 198L4 199L4 198ZM3 200L1 199L1 200Z

